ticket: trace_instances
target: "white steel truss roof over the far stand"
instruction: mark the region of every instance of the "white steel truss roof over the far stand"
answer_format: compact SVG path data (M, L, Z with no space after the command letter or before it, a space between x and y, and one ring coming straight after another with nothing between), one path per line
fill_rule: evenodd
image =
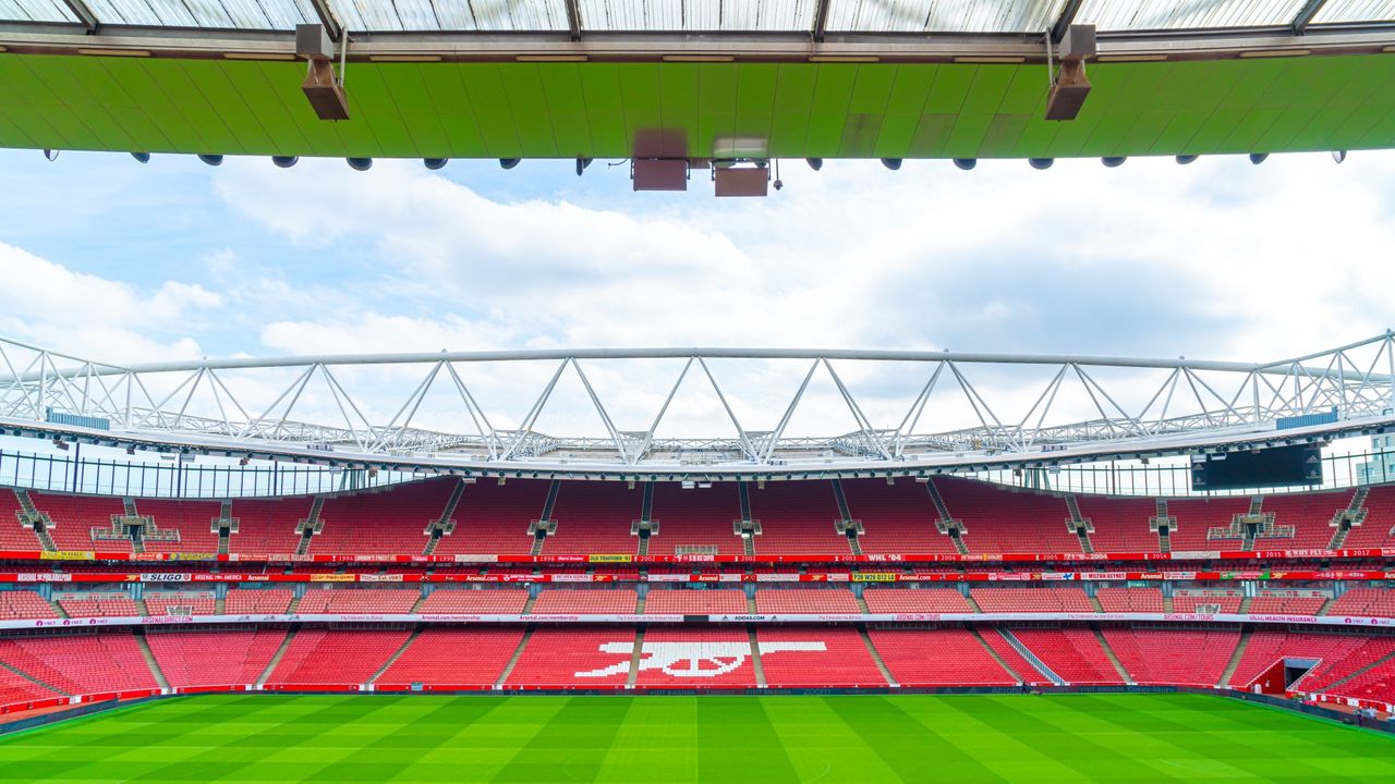
M17 434L516 476L923 474L1395 428L1391 332L1267 363L633 349L117 365L0 340L0 428ZM751 379L762 399L734 391ZM487 386L502 396L481 403ZM716 419L665 435L675 398L693 391ZM795 434L810 406L813 427L851 430Z

